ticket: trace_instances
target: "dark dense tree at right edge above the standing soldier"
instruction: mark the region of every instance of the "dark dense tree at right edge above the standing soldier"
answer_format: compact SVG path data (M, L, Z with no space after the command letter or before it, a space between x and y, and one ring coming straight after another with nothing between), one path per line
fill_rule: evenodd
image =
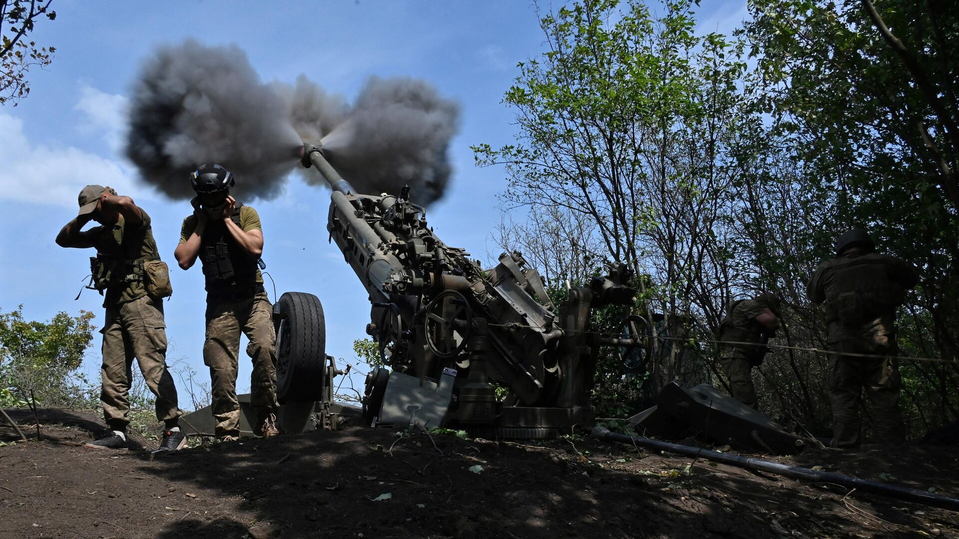
M831 239L859 225L920 267L920 289L900 316L900 346L946 363L903 365L906 401L925 425L956 417L959 6L758 0L750 10L753 96L807 194L825 202L809 208L807 263L829 257ZM818 310L804 309L814 323Z

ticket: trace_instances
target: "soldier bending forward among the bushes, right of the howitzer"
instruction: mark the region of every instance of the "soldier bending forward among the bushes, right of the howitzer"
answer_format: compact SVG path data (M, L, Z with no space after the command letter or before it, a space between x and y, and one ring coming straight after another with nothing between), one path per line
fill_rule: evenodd
M733 398L742 404L759 409L756 387L753 387L752 369L759 366L768 348L764 346L780 327L779 297L763 293L753 299L739 299L729 304L726 317L719 322L716 338L719 343L719 363L729 379ZM726 344L745 342L755 344Z

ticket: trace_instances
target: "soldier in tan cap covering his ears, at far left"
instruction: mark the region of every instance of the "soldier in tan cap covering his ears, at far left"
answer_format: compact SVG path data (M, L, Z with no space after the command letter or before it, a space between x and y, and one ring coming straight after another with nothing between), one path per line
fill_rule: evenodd
M105 292L100 400L110 429L104 437L84 445L96 449L128 446L130 368L136 358L147 387L156 396L156 418L166 427L160 451L182 449L186 435L178 426L182 412L176 406L176 387L167 368L163 320L162 298L173 290L153 241L150 216L129 197L101 185L84 187L79 201L80 213L60 229L57 245L97 249L97 256L90 259L89 288ZM82 231L91 220L101 225Z

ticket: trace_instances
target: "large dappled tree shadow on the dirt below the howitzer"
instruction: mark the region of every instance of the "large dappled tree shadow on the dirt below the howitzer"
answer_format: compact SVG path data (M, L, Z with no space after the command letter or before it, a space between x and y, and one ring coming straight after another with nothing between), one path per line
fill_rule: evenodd
M160 537L221 537L224 517L278 525L290 537L756 537L769 529L758 515L693 501L685 486L603 470L556 447L562 442L435 442L370 429L300 434L180 452L143 471L219 500L204 509L208 522L177 522Z

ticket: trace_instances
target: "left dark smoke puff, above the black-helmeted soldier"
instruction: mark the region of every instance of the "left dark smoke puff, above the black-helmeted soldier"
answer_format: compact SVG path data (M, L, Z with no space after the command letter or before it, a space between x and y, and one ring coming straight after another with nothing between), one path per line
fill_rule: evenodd
M207 162L231 171L242 196L269 199L301 144L287 110L235 45L160 47L133 88L127 155L174 199L195 196L188 175Z

